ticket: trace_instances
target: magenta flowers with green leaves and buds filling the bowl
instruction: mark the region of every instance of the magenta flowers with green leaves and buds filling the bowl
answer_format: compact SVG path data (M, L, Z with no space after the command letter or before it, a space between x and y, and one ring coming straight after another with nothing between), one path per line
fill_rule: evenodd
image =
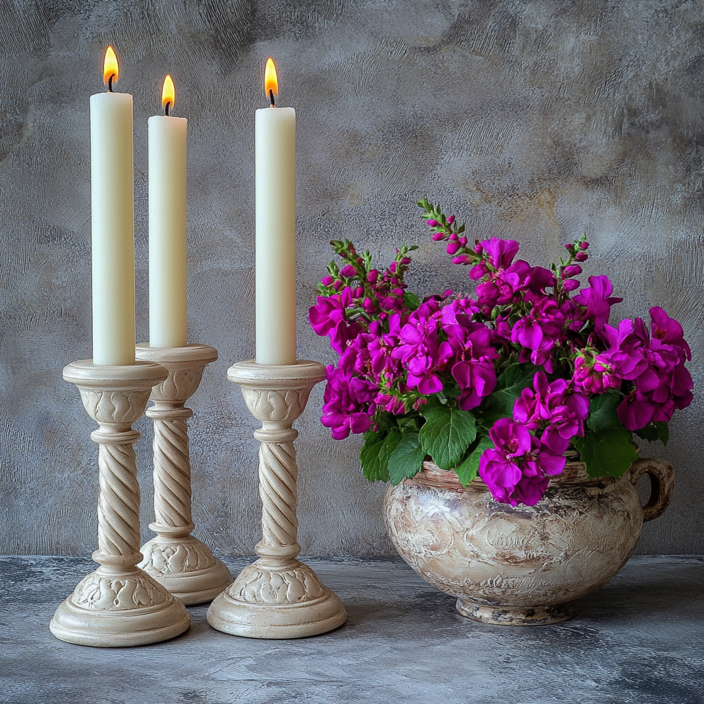
M692 401L691 352L677 320L650 308L609 324L606 276L579 282L589 243L565 244L549 269L515 259L519 243L470 244L454 215L418 202L434 241L477 282L420 301L404 276L415 246L385 270L368 251L332 241L310 308L313 330L339 354L327 367L322 424L334 439L364 433L370 481L398 484L426 458L479 477L496 501L535 505L574 448L590 477L620 477L637 459L633 434L667 443L674 410Z

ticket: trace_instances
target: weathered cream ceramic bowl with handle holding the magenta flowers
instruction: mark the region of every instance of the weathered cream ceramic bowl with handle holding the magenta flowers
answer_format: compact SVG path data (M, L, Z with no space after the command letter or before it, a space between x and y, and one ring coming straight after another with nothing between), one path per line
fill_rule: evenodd
M568 462L535 506L497 503L479 478L467 488L432 463L384 498L384 520L401 557L429 584L457 598L470 619L514 626L557 623L578 599L627 562L643 521L667 508L672 467L642 459L621 479L589 479ZM641 505L635 484L650 477Z

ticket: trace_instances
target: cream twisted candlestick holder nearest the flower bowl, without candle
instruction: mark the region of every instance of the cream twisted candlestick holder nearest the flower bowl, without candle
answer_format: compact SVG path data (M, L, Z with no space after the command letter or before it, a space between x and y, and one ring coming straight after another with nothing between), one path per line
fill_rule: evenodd
M298 360L295 365L260 365L254 360L230 367L227 378L239 384L244 401L262 428L254 432L259 448L262 540L259 559L215 598L208 623L236 636L301 638L341 626L346 612L337 596L313 570L296 560L296 450L298 431L291 424L303 413L310 390L325 379L325 367Z

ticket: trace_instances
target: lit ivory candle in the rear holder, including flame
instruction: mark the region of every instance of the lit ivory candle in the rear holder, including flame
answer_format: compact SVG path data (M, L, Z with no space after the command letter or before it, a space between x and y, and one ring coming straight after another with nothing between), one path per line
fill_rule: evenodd
M186 313L186 118L164 79L164 115L149 118L149 346L184 347Z

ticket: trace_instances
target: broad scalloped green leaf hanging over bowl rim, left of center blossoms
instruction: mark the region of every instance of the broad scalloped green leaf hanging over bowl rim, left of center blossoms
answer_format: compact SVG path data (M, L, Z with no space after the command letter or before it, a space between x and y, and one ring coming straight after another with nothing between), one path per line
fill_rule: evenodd
M420 413L425 416L425 425L419 434L423 450L442 470L453 469L477 437L474 415L467 410L441 405L426 405Z

